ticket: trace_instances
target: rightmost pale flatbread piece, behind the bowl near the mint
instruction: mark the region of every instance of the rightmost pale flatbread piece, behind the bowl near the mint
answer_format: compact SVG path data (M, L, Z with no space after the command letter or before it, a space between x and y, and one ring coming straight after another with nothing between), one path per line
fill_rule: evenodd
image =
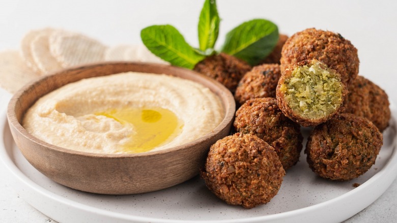
M146 48L145 45L131 45L131 47L126 50L124 58L126 61L169 64L161 58L158 58L148 48Z

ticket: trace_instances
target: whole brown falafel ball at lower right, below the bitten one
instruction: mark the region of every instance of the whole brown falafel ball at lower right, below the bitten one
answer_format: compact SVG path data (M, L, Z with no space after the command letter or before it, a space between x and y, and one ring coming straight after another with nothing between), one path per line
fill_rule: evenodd
M305 153L317 175L345 181L368 171L382 144L382 133L372 122L345 113L316 126L308 137Z

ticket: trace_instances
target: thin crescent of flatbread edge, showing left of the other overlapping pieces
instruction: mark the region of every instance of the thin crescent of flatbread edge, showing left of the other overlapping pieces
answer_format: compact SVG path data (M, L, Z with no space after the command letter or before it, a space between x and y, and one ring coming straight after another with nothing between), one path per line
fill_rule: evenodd
M31 44L35 40L35 38L39 35L49 34L53 31L51 28L45 28L40 30L32 30L25 34L25 36L21 40L21 56L25 64L30 67L34 72L40 72L40 69L37 67L31 51Z

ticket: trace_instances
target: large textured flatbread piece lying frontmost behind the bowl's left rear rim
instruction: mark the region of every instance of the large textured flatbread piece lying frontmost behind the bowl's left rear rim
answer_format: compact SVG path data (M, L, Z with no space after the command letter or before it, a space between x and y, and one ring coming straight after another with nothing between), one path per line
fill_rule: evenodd
M55 31L49 37L50 52L63 67L101 62L106 48L97 40L77 33Z

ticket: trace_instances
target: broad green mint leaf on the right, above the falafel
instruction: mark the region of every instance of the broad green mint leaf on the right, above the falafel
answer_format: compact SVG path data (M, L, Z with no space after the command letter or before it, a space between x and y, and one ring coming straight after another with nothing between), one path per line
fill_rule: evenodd
M257 65L278 41L277 25L266 19L253 19L226 34L222 52Z

